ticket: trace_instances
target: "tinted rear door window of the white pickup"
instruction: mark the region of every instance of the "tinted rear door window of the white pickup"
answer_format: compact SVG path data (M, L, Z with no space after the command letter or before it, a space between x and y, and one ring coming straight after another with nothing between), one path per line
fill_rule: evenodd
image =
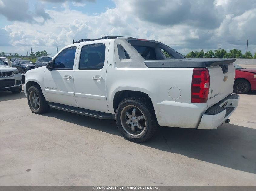
M105 44L90 44L83 46L79 60L79 69L99 70L103 68L105 49Z

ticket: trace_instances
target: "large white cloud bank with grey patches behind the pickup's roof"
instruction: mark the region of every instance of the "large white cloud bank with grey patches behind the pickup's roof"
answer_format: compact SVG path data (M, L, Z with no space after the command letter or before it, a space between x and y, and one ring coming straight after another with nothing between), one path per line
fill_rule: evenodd
M199 49L238 48L243 50L247 36L249 36L249 42L250 37L255 36L256 28L253 23L256 20L256 5L253 2L250 8L238 3L237 6L240 9L234 7L235 11L232 12L229 7L235 6L233 1L226 0L223 3L212 0L208 3L213 6L211 9L214 12L209 11L208 8L203 10L204 7L197 8L195 6L198 5L197 3L193 5L193 2L204 2L203 0L190 0L191 5L185 7L188 13L180 18L178 13L178 15L169 13L168 1L163 0L157 11L155 6L158 1L155 1L156 3L151 1L151 6L143 6L143 2L148 1L115 0L116 8L108 8L103 13L92 15L73 10L68 2L63 2L61 10L51 9L39 12L52 18L47 22L39 14L34 17L36 23L14 21L13 24L5 27L5 31L9 34L10 43L15 49L20 47L19 49L22 50L27 49L26 46L32 46L36 51L46 49L49 53L56 53L56 45L60 49L72 43L73 39L98 38L105 35L159 40L182 54ZM82 3L82 1L75 1L75 3ZM172 0L171 5L173 4L175 4L173 9L184 9L183 0ZM202 5L206 7L207 4ZM185 13L182 12L182 14ZM195 18L195 15L198 18ZM248 48L254 53L256 41L251 41Z

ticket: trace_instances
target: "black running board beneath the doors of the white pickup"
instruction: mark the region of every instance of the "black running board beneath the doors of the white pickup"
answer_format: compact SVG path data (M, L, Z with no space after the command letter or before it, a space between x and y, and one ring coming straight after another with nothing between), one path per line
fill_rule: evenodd
M73 107L68 105L63 105L59 103L52 103L48 102L49 106L53 109L62 110L62 111L68 111L71 113L77 113L80 115L85 115L89 117L95 117L98 119L115 119L115 115L111 113L104 113L100 111L94 111L94 110L87 110L79 107Z

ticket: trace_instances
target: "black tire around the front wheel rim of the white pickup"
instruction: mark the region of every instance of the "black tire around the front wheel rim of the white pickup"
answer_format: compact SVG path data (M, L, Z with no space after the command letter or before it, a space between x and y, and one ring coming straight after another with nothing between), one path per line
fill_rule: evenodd
M39 103L40 103L40 105L38 106L38 109L33 108L32 105L31 105L30 94L31 94L32 91L35 92L38 95L38 99L39 99ZM50 107L49 107L47 101L45 100L45 97L44 97L39 85L30 86L28 88L27 97L28 97L29 108L31 109L31 111L33 113L36 113L36 114L46 113L50 109Z

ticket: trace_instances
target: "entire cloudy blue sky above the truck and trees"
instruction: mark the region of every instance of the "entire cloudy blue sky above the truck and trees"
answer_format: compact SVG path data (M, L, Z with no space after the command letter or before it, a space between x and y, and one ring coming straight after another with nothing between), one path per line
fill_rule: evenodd
M158 40L182 54L245 53L249 37L254 54L255 20L255 0L0 0L0 52L32 46L56 54L73 38L120 35Z

